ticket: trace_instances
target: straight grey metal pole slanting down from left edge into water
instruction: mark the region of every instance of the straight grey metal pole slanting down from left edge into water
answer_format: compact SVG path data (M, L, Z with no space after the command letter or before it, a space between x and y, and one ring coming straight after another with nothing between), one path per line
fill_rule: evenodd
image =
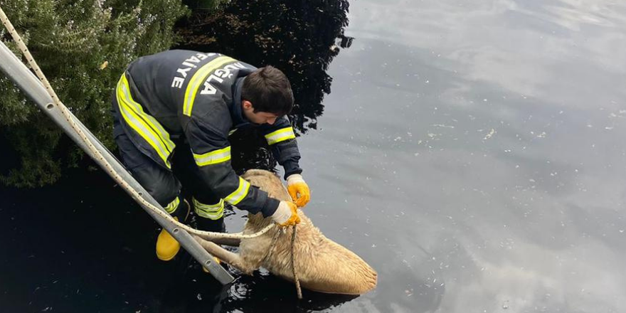
M95 155L90 152L90 149L87 148L87 144L83 142L83 139L80 138L77 132L71 127L70 123L65 120L63 113L60 112L59 108L53 103L52 97L48 95L46 92L46 88L43 87L41 82L36 78L36 76L31 73L26 65L23 65L21 61L12 53L9 48L7 48L4 43L0 41L0 70L6 75L7 78L12 80L16 86L22 90L26 94L26 96L33 100L33 102L41 108L41 110L50 117L55 124L57 124L63 132L70 137L80 149L83 149L102 169L105 169L102 161L95 158ZM161 208L164 210L159 203L150 196L150 194L137 182L129 172L120 164L120 161L117 161L115 157L107 150L104 145L85 127L85 125L78 120L73 114L71 114L72 119L78 127L80 127L87 137L91 144L96 147L96 149L105 157L107 162L112 165L115 172L122 177L124 181L126 181L132 189L137 191L142 198L151 203L153 206L157 206L157 208ZM112 176L112 173L107 173ZM141 205L141 203L139 203ZM141 205L142 206L142 205ZM198 262L200 262L203 267L206 267L213 277L216 277L216 280L221 282L223 285L226 285L230 282L233 282L233 276L231 276L223 267L218 265L213 261L213 256L210 255L202 246L194 240L186 230L176 227L174 223L171 223L166 218L159 216L159 214L154 213L147 207L142 206L144 211L154 218L159 225L165 228L176 240L181 243L181 246L187 250L193 258L195 258Z

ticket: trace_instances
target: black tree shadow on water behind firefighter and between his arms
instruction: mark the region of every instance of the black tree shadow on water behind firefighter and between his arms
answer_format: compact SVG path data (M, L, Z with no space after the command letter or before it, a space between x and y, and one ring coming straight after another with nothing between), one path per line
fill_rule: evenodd
M303 134L317 128L324 95L331 92L326 73L353 38L344 36L349 3L341 1L231 1L218 14L196 11L179 25L176 48L213 51L255 66L272 65L290 79L295 97L290 120ZM276 161L254 130L230 137L233 168L273 169ZM257 147L261 147L258 149Z

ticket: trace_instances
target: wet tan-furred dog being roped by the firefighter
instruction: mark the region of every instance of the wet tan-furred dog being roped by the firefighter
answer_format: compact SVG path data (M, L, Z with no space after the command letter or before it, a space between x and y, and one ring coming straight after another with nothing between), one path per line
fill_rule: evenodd
M270 171L251 169L242 178L266 191L272 198L292 200L280 178ZM376 287L377 274L371 266L344 246L326 238L302 210L298 210L298 215L301 223L297 225L294 243L295 266L302 287L316 292L344 295L362 295ZM272 218L264 218L261 213L250 213L243 234L257 233L270 223L274 223ZM212 241L197 236L195 238L208 253L246 275L252 275L259 267L264 267L273 275L294 282L293 231L292 227L285 230L273 227L255 238ZM239 253L231 253L220 245L238 245Z

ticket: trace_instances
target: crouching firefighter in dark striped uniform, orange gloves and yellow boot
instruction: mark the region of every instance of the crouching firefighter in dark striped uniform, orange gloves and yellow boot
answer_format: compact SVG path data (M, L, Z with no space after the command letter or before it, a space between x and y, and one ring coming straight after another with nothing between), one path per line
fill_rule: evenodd
M272 66L255 68L219 53L164 51L135 60L120 78L113 134L132 176L178 221L186 223L193 207L199 229L223 232L227 202L292 226L299 223L297 207L310 198L285 116L293 102L289 80ZM246 127L265 135L294 202L270 198L233 171L228 136ZM179 250L161 230L157 258L171 260Z

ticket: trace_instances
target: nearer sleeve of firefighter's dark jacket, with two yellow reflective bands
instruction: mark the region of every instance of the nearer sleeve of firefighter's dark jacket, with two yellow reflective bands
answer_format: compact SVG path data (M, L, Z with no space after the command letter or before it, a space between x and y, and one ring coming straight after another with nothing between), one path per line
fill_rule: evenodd
M228 127L221 129L223 124L221 116L213 119L192 117L185 128L203 187L242 210L271 216L280 201L235 174L230 165Z

